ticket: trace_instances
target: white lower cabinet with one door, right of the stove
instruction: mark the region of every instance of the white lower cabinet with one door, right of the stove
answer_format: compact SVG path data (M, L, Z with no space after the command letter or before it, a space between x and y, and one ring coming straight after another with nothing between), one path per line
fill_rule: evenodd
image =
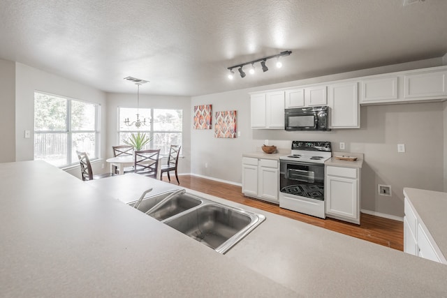
M326 216L360 224L360 170L326 167Z

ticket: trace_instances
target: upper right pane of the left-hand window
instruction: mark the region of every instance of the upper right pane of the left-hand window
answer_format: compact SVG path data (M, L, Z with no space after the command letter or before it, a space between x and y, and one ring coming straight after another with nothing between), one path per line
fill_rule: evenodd
M94 131L95 114L94 104L71 100L71 130Z

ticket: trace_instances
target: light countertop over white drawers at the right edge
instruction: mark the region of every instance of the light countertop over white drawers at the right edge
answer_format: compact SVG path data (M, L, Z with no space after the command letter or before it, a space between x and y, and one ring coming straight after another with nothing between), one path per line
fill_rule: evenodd
M447 258L447 193L406 187L404 195Z

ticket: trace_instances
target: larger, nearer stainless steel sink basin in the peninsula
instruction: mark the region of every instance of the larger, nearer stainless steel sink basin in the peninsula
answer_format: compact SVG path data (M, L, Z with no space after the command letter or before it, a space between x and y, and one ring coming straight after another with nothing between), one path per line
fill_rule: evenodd
M168 218L163 223L219 253L226 253L265 220L262 214L203 201L199 207Z

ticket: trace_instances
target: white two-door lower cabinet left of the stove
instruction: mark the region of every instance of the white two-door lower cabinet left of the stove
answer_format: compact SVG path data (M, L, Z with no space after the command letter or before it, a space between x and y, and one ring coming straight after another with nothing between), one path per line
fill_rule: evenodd
M248 197L278 203L278 161L242 158L242 193Z

